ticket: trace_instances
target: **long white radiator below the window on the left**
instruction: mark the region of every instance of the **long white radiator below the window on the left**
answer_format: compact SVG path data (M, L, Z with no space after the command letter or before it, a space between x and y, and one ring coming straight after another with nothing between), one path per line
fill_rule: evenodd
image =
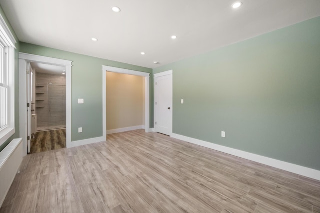
M0 152L0 207L22 162L22 138L13 139Z

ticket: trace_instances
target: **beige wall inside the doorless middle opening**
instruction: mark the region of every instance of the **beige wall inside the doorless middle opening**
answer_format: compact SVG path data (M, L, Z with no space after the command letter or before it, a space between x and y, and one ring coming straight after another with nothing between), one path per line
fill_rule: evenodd
M106 129L143 125L143 77L106 72Z

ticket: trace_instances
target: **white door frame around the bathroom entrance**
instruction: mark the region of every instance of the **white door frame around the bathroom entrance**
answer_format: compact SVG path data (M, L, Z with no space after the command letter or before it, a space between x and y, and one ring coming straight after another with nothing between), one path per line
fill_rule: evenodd
M23 156L26 155L26 63L36 62L65 67L65 145L71 145L71 66L72 61L19 52L19 128L23 144Z

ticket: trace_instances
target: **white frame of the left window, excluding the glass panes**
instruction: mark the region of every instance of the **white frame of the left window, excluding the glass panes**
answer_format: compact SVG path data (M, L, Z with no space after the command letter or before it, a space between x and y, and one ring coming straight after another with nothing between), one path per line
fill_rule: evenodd
M0 14L0 44L4 51L1 56L1 72L4 73L4 81L0 83L2 87L7 89L6 102L6 125L0 129L0 146L10 138L14 132L14 49L15 39L6 25L2 15ZM3 64L3 65L2 65ZM1 73L0 72L0 73ZM3 114L0 112L0 115Z

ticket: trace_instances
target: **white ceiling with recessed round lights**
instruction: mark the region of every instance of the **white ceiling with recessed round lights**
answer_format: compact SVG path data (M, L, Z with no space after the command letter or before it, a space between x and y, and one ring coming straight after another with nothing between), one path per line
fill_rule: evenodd
M0 4L20 41L149 68L320 15L320 0L241 0L242 6L233 9L234 1L0 0ZM113 12L113 5L121 11ZM170 38L173 34L177 39Z

